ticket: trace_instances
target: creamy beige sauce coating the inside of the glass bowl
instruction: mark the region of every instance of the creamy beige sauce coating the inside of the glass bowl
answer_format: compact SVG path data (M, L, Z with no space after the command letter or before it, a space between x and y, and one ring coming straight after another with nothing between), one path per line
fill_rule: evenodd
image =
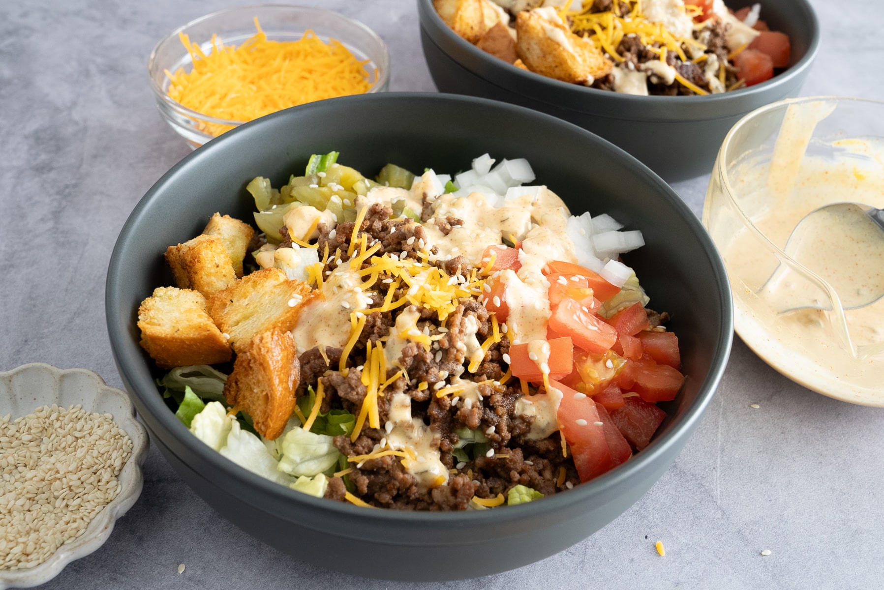
M832 145L842 147L841 154L805 155L814 126L832 111L829 106L827 102L790 106L772 161L748 160L730 172L743 213L779 248L815 208L843 200L884 207L884 143L880 140L840 140ZM721 208L713 215L729 213ZM710 219L710 227L715 223L721 222ZM806 296L812 291L825 299L825 291L796 273L789 278L801 281L800 285L763 288L779 261L754 231L738 231L720 247L734 287L736 330L747 344L811 389L884 405L884 300L844 312L804 308L781 313L789 304L790 292L799 289ZM842 265L825 253L819 257L816 263L823 268Z

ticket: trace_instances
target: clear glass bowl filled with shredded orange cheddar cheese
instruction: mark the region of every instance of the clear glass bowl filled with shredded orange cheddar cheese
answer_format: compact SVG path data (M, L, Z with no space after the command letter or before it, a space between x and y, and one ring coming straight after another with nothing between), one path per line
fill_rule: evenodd
M160 114L195 148L278 110L384 92L390 57L374 31L337 12L263 4L180 26L148 72Z

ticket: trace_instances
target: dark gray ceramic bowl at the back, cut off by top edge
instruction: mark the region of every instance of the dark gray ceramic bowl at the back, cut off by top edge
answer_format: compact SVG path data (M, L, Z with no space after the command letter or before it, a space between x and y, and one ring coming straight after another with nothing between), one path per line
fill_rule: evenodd
M752 0L728 0L737 9ZM762 16L789 34L789 69L753 87L708 96L633 96L525 72L461 39L417 0L423 56L439 92L483 96L539 110L580 125L622 147L668 182L709 174L730 128L751 110L796 96L819 44L807 0L763 0Z

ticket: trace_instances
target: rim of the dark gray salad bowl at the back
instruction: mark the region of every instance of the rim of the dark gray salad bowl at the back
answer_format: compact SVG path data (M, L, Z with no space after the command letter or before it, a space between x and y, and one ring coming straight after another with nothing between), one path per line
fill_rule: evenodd
M560 109L568 110L579 110L577 108L579 102L586 101L588 97L591 97L593 102L606 102L606 106L621 106L626 104L633 108L650 110L650 112L644 113L641 117L611 117L636 120L656 120L657 118L667 119L669 117L665 116L664 111L672 109L673 107L681 108L683 106L693 110L701 108L703 111L711 111L715 109L720 109L724 104L735 102L741 98L745 100L751 100L752 98L756 98L758 97L758 95L766 94L767 92L771 92L773 94L780 92L780 87L788 85L791 79L795 78L801 72L804 72L804 70L810 67L813 60L816 58L817 52L819 50L819 19L817 18L816 11L813 10L812 5L807 0L791 0L791 2L793 4L796 4L798 8L804 11L806 18L811 23L811 41L808 45L807 51L804 52L804 56L802 56L801 59L796 62L796 64L789 66L789 68L786 69L784 72L777 74L772 79L769 79L760 84L756 84L755 86L744 87L738 90L721 93L719 95L637 96L622 95L608 90L599 90L598 88L581 86L579 84L569 84L568 82L562 82L558 79L547 78L546 76L542 76L534 72L527 72L525 70L522 70L521 68L516 68L514 66L506 64L499 58L493 57L482 49L477 48L466 39L463 39L459 34L454 33L451 27L447 26L445 21L442 20L442 18L438 15L438 12L433 7L433 0L417 0L418 8L420 9L420 11L422 13L425 13L427 18L431 19L432 24L436 26L438 31L440 31L441 34L445 36L446 41L456 43L456 47L459 47L462 50L466 51L471 57L479 60L488 68L497 70L502 76L513 80L515 83L521 82L522 84L527 83L535 86L537 86L538 84L549 85L552 91L556 93L561 93L560 96L563 96L565 98L565 101L551 102L550 100L546 100L543 97L532 94L531 97L533 99L540 102L545 102ZM449 57L452 57L458 64L461 64L462 67L469 70L469 72L473 72L477 76L484 78L486 81L499 87L509 87L510 89L513 88L509 85L501 86L498 79L489 79L482 73L476 72L474 68L469 66L469 64L464 64L461 60L453 57L445 49L442 49L442 51L446 53L446 55L448 55ZM524 87L522 87L522 90L523 89ZM780 92L780 95L781 94L782 93ZM700 115L701 113L695 114ZM733 112L723 114L707 114L704 112L702 113L702 117L693 117L693 120L733 117L733 115Z

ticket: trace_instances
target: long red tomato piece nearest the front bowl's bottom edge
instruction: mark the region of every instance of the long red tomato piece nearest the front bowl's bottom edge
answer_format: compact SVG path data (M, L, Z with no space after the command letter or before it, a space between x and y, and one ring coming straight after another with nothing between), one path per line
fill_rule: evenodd
M589 481L598 477L615 464L605 429L597 424L601 420L595 402L591 397L586 397L560 382L552 382L552 387L562 394L556 419L560 433L565 437L565 442L568 442L568 448L574 457L574 466L580 480Z

